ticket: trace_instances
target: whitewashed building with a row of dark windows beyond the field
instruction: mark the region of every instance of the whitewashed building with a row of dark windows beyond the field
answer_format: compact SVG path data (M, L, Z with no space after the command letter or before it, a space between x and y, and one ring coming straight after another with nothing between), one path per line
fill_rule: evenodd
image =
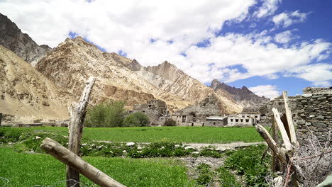
M240 113L236 115L229 115L227 126L252 127L259 122L259 113Z

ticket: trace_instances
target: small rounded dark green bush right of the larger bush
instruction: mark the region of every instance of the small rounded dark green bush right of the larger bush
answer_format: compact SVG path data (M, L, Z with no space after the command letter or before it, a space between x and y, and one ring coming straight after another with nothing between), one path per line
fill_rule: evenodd
M144 113L131 113L123 120L124 127L146 127L150 123L147 115Z

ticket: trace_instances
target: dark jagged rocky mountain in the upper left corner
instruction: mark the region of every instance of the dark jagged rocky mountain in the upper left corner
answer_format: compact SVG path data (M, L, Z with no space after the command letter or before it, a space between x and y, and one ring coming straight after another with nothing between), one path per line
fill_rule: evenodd
M0 13L0 45L13 51L26 62L33 66L43 57L51 48L48 45L36 44L29 35L22 31L7 16Z

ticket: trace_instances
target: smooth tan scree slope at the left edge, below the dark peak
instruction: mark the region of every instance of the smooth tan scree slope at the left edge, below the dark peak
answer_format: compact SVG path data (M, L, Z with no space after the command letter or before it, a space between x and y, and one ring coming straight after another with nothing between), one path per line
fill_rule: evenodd
M73 98L0 45L0 113L34 119L67 119Z

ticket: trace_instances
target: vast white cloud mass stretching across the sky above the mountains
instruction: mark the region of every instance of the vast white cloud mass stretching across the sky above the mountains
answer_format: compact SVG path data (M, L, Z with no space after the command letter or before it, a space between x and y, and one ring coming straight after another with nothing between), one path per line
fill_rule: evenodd
M280 2L264 1L254 14L257 18L271 15ZM128 57L145 66L167 60L203 83L212 79L231 82L254 76L277 79L277 75L287 74L314 84L326 84L331 77L314 78L309 76L310 72L289 69L306 68L313 62L326 60L330 57L330 42L313 40L278 47L274 41L286 40L272 38L268 30L248 35L214 35L226 21L243 21L255 3L255 0L100 0L92 3L7 0L0 2L0 9L38 44L55 47L72 31L108 52L126 52ZM292 24L293 19L304 21L304 14L295 11L282 15ZM276 19L278 26L289 26L283 17ZM156 41L151 43L151 38ZM194 45L202 40L209 40L210 45ZM182 52L187 57L182 56ZM331 73L331 69L324 71Z

